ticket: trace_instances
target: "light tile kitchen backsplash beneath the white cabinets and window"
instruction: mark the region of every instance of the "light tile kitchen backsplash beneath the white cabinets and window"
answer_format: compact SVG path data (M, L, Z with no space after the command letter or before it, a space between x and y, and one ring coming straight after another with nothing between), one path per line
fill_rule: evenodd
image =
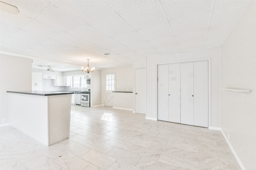
M87 88L71 88L70 86L54 86L53 79L43 79L43 91L88 91L90 85L87 85Z

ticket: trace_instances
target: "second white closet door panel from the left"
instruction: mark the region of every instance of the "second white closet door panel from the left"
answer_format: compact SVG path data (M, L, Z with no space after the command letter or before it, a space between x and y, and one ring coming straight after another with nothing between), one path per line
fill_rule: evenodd
M169 64L169 121L180 123L180 63Z

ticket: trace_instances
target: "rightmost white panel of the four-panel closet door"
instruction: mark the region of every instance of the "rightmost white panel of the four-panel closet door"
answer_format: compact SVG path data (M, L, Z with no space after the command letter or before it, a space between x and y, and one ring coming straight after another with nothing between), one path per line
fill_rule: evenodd
M194 125L208 127L208 61L194 63Z

